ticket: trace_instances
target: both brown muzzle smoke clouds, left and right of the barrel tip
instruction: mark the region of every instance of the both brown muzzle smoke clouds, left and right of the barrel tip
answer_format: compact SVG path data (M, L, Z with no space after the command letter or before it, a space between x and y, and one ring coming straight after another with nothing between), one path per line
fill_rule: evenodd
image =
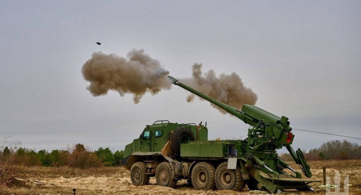
M195 63L192 66L192 77L180 81L238 109L242 108L243 104L256 104L257 95L244 86L235 72L222 73L217 77L213 70L202 74L201 68L202 64ZM147 92L155 95L171 87L167 78L169 72L161 67L158 60L144 54L144 50L131 50L127 59L116 54L95 52L83 65L82 73L84 79L90 82L87 89L93 96L106 95L109 90L113 90L121 96L132 94L135 104L138 104ZM187 101L193 101L194 97L194 94L189 95ZM226 113L218 106L211 105L223 114Z

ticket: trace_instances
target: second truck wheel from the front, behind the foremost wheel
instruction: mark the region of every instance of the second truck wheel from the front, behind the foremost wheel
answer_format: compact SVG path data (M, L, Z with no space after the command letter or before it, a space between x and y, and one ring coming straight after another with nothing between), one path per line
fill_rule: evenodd
M156 170L157 185L168 186L174 188L177 185L177 180L174 179L174 171L168 162L158 164Z

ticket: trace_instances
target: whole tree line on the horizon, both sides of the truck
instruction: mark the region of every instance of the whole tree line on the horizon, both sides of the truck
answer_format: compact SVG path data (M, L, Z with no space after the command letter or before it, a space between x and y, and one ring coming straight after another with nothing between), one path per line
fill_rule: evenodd
M36 152L32 149L11 146L2 148L0 162L24 166L108 167L120 165L120 160L124 157L123 150L113 153L109 148L99 148L91 151L83 144L75 144L67 150L52 150L51 152L47 150ZM361 146L346 140L332 140L303 153L306 160L361 159ZM280 157L285 161L293 161L288 153L281 154Z

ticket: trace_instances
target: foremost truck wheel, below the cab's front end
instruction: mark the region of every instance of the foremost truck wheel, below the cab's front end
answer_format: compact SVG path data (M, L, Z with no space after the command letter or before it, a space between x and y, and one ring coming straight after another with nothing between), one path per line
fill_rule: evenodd
M143 186L149 183L149 175L145 174L146 165L143 162L136 162L130 169L130 178L136 186Z

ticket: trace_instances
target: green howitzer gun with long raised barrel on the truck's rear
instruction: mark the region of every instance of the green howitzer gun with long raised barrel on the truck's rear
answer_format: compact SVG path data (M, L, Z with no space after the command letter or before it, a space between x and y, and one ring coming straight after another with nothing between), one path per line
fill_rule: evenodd
M292 155L293 159L302 168L306 177L312 177L310 166L307 164L304 155L300 149L296 152L292 149L294 135L291 133L292 128L289 126L290 122L285 116L278 117L272 113L267 112L254 105L244 104L241 110L238 110L230 105L217 101L205 94L179 82L174 77L168 76L174 85L178 85L183 89L215 104L241 119L244 123L250 125L248 129L248 137L243 140L243 153L254 157L255 161L264 168L271 170L273 174L278 175L277 168L279 165L284 168L289 168L296 174L296 177L301 178L299 172L296 172L288 166L282 159L277 156L276 149L281 149L283 146Z

